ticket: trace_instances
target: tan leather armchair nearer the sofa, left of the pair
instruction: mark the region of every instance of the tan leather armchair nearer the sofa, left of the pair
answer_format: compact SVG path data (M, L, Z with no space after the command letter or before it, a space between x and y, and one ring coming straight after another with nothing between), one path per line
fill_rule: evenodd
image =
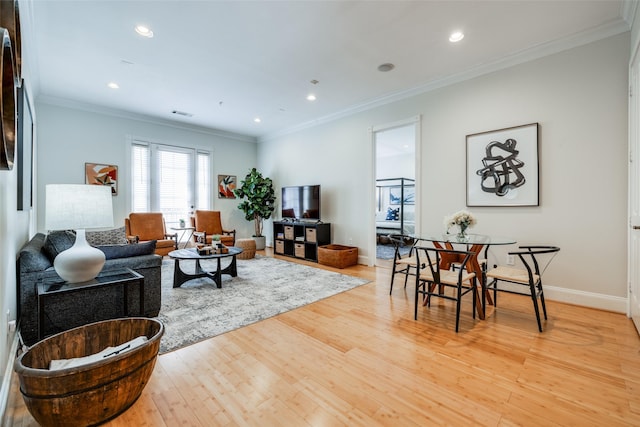
M127 239L133 242L156 241L156 254L167 255L178 248L178 233L168 234L162 213L137 212L124 219Z

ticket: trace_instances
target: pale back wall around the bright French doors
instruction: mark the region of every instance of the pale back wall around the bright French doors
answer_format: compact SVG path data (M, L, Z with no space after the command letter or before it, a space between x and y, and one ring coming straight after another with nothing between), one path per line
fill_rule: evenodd
M113 198L114 221L120 227L130 213L127 161L130 138L189 148L210 150L213 156L213 209L222 213L225 228L236 229L238 237L253 234L252 224L237 209L237 199L219 199L217 175L236 175L244 179L256 164L256 144L243 138L220 136L215 132L192 131L150 121L133 120L98 112L39 102L40 135L38 203L44 206L45 185L84 183L85 162L118 166L118 195ZM44 209L38 211L38 231L45 231Z

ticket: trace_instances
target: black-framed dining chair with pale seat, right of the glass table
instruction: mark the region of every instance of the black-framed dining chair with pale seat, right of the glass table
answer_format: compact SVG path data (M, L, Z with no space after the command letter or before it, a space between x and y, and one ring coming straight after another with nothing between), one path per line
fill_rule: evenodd
M542 273L549 266L551 260L560 252L557 246L519 246L519 250L509 252L509 255L518 256L524 268L497 266L487 271L487 290L493 291L493 305L497 307L497 293L507 292L517 295L528 295L533 300L533 309L536 312L538 330L542 332L540 309L538 298L542 305L544 319L547 320L547 307L544 303L544 290L542 289ZM544 268L540 269L544 258ZM502 282L502 283L501 283ZM511 286L506 285L511 284ZM520 288L513 285L520 285ZM522 289L525 287L526 289Z

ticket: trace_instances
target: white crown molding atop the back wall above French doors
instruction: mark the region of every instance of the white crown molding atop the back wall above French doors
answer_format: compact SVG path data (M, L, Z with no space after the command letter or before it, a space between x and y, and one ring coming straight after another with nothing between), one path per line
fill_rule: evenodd
M47 95L40 95L38 102L43 104L54 105L58 107L65 107L74 110L87 111L90 113L104 114L107 116L118 117L123 119L135 120L138 122L144 122L159 126L167 126L174 129L186 130L189 132L197 132L205 135L213 135L227 139L233 139L242 142L256 143L257 139L253 136L242 135L233 132L226 132L219 129L208 128L204 126L189 125L179 123L171 120L160 119L157 117L151 117L144 114L132 113L124 110L117 110L114 108L102 107L94 104L87 104L78 101L72 101L70 99L51 97Z

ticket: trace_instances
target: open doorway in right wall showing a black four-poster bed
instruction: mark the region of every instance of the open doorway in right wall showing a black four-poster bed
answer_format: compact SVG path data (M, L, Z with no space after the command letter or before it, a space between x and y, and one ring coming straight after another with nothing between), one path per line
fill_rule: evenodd
M418 182L416 148L418 121L374 130L375 265L390 266L394 246L389 234L416 234Z

